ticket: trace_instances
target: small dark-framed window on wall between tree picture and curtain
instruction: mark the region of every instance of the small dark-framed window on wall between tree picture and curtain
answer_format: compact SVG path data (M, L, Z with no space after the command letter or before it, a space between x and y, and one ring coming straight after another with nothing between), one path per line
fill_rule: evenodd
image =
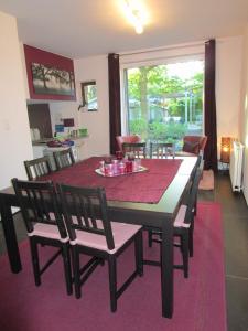
M80 83L82 88L82 105L87 111L97 111L97 85L96 81ZM79 110L78 108L78 110Z

